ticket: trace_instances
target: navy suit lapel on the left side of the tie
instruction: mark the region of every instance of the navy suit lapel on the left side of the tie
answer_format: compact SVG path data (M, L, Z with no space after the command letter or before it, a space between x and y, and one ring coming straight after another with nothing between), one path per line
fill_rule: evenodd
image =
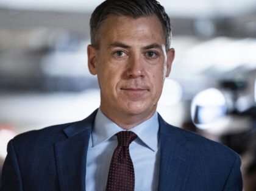
M97 110L87 119L65 128L67 139L54 145L60 190L85 191L88 142Z

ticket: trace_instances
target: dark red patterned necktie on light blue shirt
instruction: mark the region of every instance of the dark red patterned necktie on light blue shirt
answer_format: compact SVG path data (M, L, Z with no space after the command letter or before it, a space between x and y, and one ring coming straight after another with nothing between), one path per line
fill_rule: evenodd
M132 131L120 131L116 136L118 146L110 163L106 191L133 191L135 177L129 145L137 135Z

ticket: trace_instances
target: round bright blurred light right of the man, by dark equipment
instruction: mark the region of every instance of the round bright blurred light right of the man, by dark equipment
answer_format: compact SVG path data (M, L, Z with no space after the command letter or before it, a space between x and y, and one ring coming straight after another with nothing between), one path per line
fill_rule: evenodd
M197 128L208 129L215 125L225 127L222 117L227 111L224 94L215 88L196 94L191 103L191 117Z

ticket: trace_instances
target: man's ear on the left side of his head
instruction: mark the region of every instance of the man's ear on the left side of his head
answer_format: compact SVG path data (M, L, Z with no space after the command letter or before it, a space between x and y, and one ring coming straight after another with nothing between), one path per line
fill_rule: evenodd
M87 55L88 55L88 68L91 74L97 74L97 55L98 50L96 50L91 44L87 46Z

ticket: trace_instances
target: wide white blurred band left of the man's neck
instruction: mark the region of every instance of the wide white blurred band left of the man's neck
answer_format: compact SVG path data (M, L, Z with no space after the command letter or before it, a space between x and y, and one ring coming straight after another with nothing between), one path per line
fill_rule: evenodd
M12 125L17 133L58 123L82 120L100 104L99 89L80 93L0 94L0 122Z

